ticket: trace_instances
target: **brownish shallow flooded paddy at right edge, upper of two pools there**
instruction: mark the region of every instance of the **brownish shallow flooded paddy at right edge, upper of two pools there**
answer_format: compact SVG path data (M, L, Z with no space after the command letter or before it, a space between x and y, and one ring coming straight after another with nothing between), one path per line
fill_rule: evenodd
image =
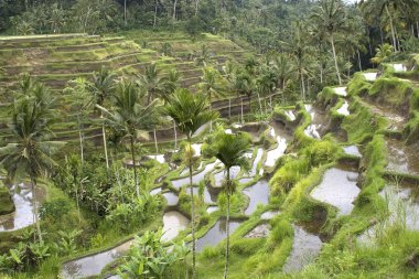
M387 170L419 175L419 157L415 147L405 146L401 141L387 139L388 165Z

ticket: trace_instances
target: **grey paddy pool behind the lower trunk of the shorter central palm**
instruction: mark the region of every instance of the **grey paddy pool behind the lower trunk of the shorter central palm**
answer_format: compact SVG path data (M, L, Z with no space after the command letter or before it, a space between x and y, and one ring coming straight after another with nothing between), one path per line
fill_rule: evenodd
M206 234L196 239L196 250L202 251L205 247L208 246L216 246L218 243L224 240L227 237L226 232L226 221L225 219L218 219L215 225L210 228ZM232 221L229 222L229 233L230 235L236 230L236 228L241 224L241 222L238 221Z

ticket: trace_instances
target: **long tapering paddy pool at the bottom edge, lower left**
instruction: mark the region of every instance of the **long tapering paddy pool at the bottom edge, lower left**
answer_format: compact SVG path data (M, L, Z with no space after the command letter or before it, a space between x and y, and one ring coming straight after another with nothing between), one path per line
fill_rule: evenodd
M63 265L62 276L68 279L98 276L108 264L127 254L132 242L131 239L112 249L68 261Z

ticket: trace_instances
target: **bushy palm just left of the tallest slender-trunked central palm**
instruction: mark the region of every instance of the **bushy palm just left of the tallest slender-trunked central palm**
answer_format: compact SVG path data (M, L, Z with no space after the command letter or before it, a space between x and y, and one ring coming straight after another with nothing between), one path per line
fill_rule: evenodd
M122 139L128 139L129 141L138 196L140 195L140 189L138 185L135 143L140 137L148 138L147 130L159 122L158 101L153 100L149 105L142 106L144 95L146 93L140 90L135 83L122 81L118 83L116 93L112 96L114 109L111 111L97 105L105 114L109 126L122 133Z

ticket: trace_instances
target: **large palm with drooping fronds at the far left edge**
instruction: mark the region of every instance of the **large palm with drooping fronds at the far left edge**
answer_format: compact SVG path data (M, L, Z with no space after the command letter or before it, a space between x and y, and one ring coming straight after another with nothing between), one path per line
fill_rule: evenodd
M13 103L10 128L13 141L0 148L1 165L13 179L28 175L31 180L34 219L39 240L42 242L39 223L36 191L37 179L56 163L51 155L64 142L51 140L51 125L56 119L55 99L42 84L35 84Z

